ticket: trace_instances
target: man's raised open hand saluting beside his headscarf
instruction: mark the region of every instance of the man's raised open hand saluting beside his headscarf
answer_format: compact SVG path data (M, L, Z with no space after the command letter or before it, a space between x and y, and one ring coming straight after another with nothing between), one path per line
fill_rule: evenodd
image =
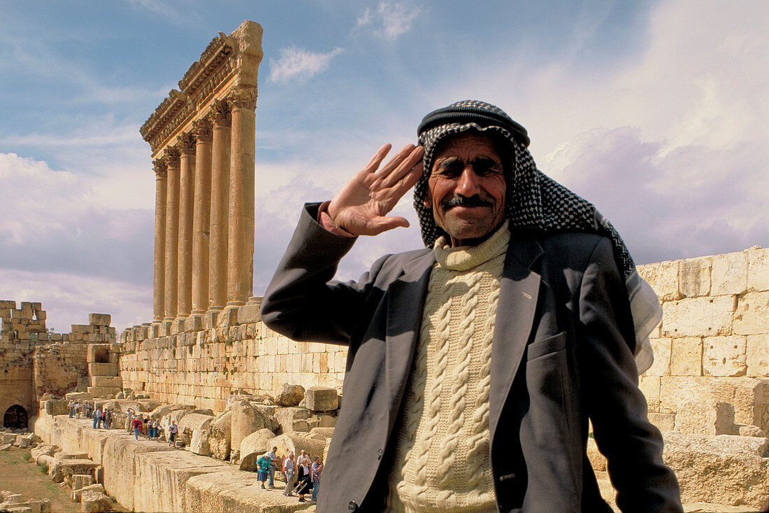
M382 146L328 205L328 215L342 230L352 235L378 235L408 226L403 217L387 214L422 176L424 149L408 144L380 168L391 148Z

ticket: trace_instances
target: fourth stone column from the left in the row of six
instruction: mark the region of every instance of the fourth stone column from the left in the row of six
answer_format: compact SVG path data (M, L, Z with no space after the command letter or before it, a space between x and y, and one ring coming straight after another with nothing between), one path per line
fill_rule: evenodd
M208 235L211 226L211 122L196 119L195 206L192 213L192 314L208 308Z

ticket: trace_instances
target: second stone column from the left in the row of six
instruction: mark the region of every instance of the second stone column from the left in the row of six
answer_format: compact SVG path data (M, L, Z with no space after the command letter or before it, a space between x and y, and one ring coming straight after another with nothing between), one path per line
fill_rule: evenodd
M165 149L168 166L168 187L165 200L165 318L176 317L176 278L179 245L179 150L175 146Z

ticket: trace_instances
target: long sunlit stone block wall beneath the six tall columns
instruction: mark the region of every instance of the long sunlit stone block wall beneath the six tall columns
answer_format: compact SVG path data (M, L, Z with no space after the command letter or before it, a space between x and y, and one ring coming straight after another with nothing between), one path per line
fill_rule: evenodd
M178 323L168 335L157 324L123 331L123 387L214 411L224 411L231 391L275 394L284 383L341 389L346 347L289 340L265 327L258 307L225 310L216 326Z

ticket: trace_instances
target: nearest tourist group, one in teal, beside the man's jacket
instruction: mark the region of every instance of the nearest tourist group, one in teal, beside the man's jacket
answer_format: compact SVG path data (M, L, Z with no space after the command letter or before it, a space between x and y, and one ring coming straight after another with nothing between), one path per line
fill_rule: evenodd
M261 481L261 488L275 488L275 470L277 462L280 461L277 454L278 448L273 447L271 451L261 455L256 464L258 466L258 479ZM281 471L285 478L285 489L283 495L292 497L294 492L299 496L299 502L307 502L305 495L311 493L311 501L318 500L318 491L321 486L321 472L323 464L321 458L315 456L310 460L307 451L302 450L297 461L294 461L294 452L290 451L283 458ZM294 479L296 477L296 480ZM269 484L265 487L265 481Z

